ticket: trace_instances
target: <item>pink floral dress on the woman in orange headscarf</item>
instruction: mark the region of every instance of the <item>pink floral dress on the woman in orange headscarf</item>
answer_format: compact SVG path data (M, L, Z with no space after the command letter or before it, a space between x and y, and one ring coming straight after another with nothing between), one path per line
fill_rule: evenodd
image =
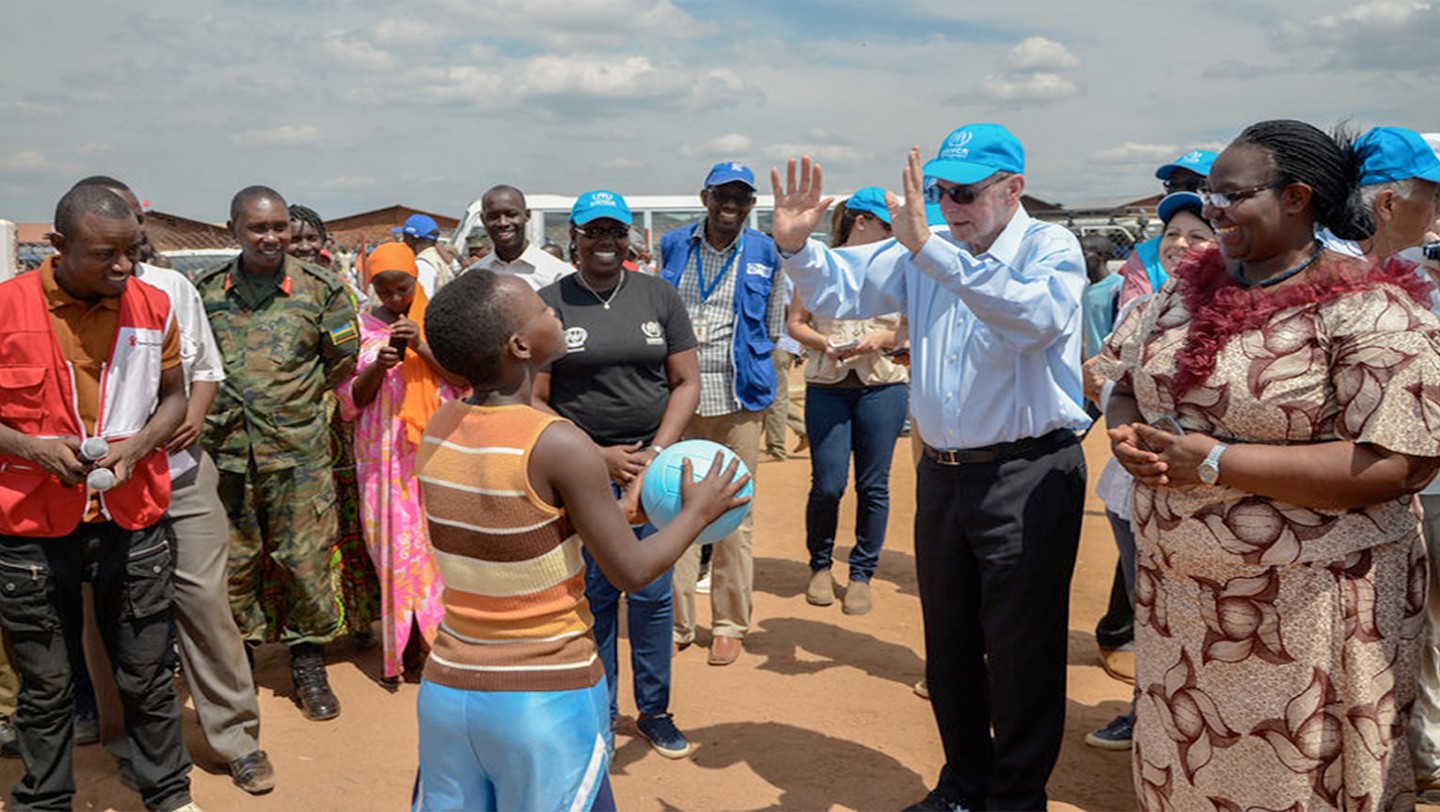
M356 468L360 477L360 518L364 524L366 547L380 579L382 641L384 644L384 675L399 677L405 671L405 646L410 638L412 619L426 644L435 641L445 608L441 592L445 585L431 553L431 538L425 527L420 487L415 478L415 454L399 419L405 400L400 367L386 371L384 380L369 406L354 402L354 383L360 371L374 363L380 347L390 340L390 325L369 312L360 314L360 357L356 376L346 380L336 393L340 410L356 426ZM445 396L452 394L441 386Z

